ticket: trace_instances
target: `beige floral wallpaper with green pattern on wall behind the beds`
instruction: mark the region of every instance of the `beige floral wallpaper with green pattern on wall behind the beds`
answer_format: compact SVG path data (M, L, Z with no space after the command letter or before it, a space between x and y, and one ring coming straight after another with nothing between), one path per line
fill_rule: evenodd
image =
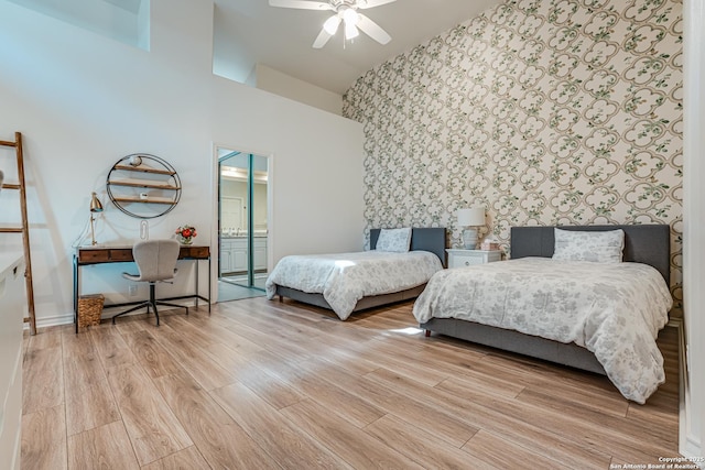
M669 223L681 299L682 3L517 0L360 77L367 228Z

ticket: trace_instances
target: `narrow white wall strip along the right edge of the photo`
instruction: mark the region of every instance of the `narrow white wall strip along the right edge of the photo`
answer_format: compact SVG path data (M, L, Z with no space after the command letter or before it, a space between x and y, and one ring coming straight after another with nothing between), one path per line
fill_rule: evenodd
M705 456L705 6L702 0L683 3L684 92L683 113L683 319L688 370L685 409L681 413L680 451ZM701 460L702 468L705 462Z

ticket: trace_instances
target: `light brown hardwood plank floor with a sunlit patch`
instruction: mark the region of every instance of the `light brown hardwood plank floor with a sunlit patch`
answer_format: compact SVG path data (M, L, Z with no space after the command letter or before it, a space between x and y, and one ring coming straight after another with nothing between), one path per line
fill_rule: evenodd
M608 469L677 456L677 338L641 406L603 376L251 298L24 340L22 468ZM612 466L612 467L610 467Z

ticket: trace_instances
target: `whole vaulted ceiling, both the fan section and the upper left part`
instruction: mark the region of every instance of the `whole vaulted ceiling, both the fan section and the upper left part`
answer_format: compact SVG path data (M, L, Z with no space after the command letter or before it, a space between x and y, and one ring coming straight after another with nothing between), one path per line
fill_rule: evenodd
M1 1L1 0L0 0ZM9 0L59 20L149 48L150 0ZM295 0L300 2L308 0ZM318 2L315 0L311 0ZM326 1L326 0L319 0ZM327 0L349 4L354 0ZM365 0L358 0L360 2ZM336 94L370 68L477 17L502 0L395 0L360 10L391 35L384 45L343 28L322 48L312 47L332 11L270 7L269 0L214 0L214 72L247 83L257 64Z

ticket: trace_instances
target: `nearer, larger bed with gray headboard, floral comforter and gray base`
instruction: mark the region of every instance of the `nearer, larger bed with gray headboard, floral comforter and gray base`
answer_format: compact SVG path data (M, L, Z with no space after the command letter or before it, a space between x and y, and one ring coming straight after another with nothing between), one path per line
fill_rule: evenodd
M554 261L554 233L561 238L566 233L561 230L556 232L555 229L556 227L514 227L511 229L511 260L445 270L435 274L416 299L414 316L421 328L426 330L426 336L435 331L606 374L622 395L643 403L664 381L663 359L655 338L658 330L668 321L668 310L672 305L669 291L670 227L558 227L570 232L615 233L615 230L622 230L622 262L616 263ZM583 237L582 233L567 236ZM586 237L604 236L608 233ZM573 277L574 274L582 275L582 266L592 272L585 274L585 277ZM622 278L632 277L636 285L619 284ZM503 284L499 280L503 280ZM585 291L593 282L595 291ZM521 297L525 297L528 304L520 304ZM615 297L616 304L611 303L611 297ZM642 306L642 300L643 304L653 304L658 311L646 313L650 307ZM592 304L582 307L585 302ZM571 310L573 307L568 307L568 304L579 304L579 308L585 310L592 308L592 316L583 318L579 316L582 314L575 314L577 324L563 326L561 323L564 317L574 315ZM517 318L511 316L514 307ZM628 318L623 319L622 314ZM641 316L649 316L648 326L642 326L641 319L632 318ZM629 328L623 334L618 332L616 324L623 321L628 323ZM542 337L544 331L538 330L541 330L542 324L549 328L550 323L555 323L558 329L565 330ZM623 345L617 347L623 351L605 348L606 342L615 341L615 338L604 336L605 331L612 335L612 330L615 335L623 335L623 338L618 339ZM648 352L643 352L647 350ZM634 358L629 357L632 353ZM644 359L643 354L648 357ZM615 370L615 362L620 361L625 363L622 365L627 365L626 372ZM639 369L639 361L648 362L650 370L633 372L634 376L620 376L630 374L630 369ZM642 372L647 378L637 376Z

